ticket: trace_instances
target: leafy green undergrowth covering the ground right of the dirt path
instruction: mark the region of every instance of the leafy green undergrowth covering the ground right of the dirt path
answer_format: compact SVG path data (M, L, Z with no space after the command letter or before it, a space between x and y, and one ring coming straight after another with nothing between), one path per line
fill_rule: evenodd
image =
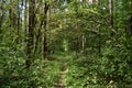
M127 85L131 86L128 84L131 79L125 81L131 78L130 73L117 69L114 61L108 63L103 62L105 57L77 54L70 54L67 59L66 88L125 88ZM109 58L106 59L109 61Z

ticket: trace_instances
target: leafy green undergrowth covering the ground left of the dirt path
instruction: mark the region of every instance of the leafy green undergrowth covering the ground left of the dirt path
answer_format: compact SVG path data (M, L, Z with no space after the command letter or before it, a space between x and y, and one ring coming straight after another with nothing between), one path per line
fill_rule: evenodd
M57 55L52 56L54 61L35 58L28 69L24 54L20 54L10 48L2 51L0 88L53 88L58 82L62 59Z

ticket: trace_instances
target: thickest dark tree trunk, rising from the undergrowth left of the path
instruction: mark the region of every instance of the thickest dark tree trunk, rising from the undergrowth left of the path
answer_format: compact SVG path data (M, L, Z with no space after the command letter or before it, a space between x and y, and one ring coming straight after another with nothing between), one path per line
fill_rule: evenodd
M28 59L25 62L26 68L31 66L31 58L33 57L33 37L34 37L34 20L35 20L35 0L29 0L29 32L28 32L28 45L26 45L26 54Z

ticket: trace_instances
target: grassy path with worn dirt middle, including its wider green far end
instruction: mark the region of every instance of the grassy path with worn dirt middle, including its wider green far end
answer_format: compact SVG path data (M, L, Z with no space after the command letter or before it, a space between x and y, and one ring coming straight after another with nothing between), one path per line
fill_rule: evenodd
M67 88L66 78L67 78L67 65L69 63L69 58L72 55L68 53L58 53L56 56L58 58L57 63L59 63L59 74L58 74L58 81L54 86L54 88Z

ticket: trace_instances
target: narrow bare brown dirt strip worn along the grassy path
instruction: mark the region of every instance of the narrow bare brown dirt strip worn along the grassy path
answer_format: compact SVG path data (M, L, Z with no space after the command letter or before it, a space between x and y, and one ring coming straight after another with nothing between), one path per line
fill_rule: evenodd
M63 63L63 66L61 68L59 73L59 81L55 86L55 88L65 88L65 73L66 73L66 62Z

